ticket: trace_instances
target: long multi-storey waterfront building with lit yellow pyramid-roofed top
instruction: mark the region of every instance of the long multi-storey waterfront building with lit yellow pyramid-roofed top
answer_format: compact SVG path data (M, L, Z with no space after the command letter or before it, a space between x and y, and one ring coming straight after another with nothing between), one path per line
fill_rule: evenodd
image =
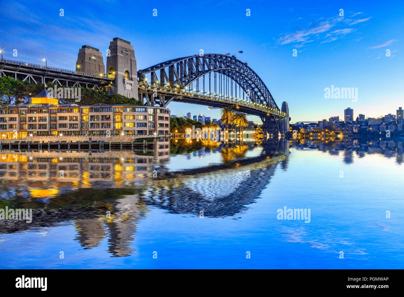
M39 97L38 97L39 96ZM32 104L0 108L1 139L27 136L162 136L170 134L170 110L143 105L57 104L45 90ZM56 104L52 104L56 103ZM109 131L109 132L108 132Z

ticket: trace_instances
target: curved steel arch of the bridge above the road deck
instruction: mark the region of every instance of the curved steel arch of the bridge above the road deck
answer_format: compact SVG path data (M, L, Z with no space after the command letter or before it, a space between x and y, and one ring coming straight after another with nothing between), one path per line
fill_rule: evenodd
M213 82L212 74L214 76ZM219 78L217 78L217 75L219 75ZM206 76L209 78L205 86ZM203 94L212 94L212 91L215 91L214 93L217 95L219 90L220 96L227 98L237 97L238 85L240 99L241 89L243 90L243 102L244 95L246 95L245 102L280 110L267 86L255 71L247 63L229 55L204 54L168 60L139 70L138 78L139 84L179 89L189 86L193 88L195 83L197 92L202 91ZM221 81L222 79L223 82ZM214 83L214 86L211 85L212 83ZM207 85L208 92L205 92ZM189 89L189 91L193 90ZM229 97L229 95L231 96ZM163 105L167 104L168 102L163 100Z

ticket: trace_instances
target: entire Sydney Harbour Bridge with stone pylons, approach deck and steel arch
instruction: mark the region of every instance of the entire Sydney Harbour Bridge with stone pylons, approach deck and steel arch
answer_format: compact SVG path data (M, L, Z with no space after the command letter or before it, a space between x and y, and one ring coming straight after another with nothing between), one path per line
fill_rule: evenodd
M235 56L199 54L137 70L133 46L114 38L106 62L105 68L99 49L83 46L75 71L2 59L0 76L105 90L134 97L148 106L167 107L175 101L233 107L236 112L259 116L270 137L289 132L288 104L283 102L280 109L258 74Z

